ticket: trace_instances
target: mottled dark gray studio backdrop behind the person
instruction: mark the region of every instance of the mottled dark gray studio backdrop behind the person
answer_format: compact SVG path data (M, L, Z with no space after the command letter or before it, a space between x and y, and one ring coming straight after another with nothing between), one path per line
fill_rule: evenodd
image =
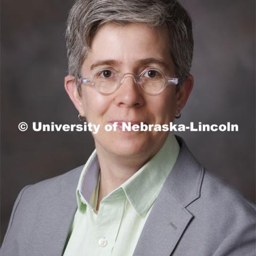
M78 123L63 88L65 22L73 1L3 0L1 9L1 241L22 187L86 162L89 133L26 132L22 121ZM227 123L239 132L181 135L207 169L255 202L255 4L183 0L194 22L194 90L180 123Z

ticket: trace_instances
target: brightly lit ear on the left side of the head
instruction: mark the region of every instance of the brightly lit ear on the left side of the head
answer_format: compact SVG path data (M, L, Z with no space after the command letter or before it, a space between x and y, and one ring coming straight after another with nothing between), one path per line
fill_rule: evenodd
M84 117L84 105L82 98L77 90L77 85L74 76L68 75L65 77L65 90L68 93L71 101L74 103L79 114Z

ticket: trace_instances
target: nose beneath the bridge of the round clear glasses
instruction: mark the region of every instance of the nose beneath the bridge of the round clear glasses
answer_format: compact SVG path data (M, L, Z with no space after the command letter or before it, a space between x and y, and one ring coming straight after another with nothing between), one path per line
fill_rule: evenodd
M141 107L144 104L143 92L132 73L127 73L120 81L115 97L119 107Z

